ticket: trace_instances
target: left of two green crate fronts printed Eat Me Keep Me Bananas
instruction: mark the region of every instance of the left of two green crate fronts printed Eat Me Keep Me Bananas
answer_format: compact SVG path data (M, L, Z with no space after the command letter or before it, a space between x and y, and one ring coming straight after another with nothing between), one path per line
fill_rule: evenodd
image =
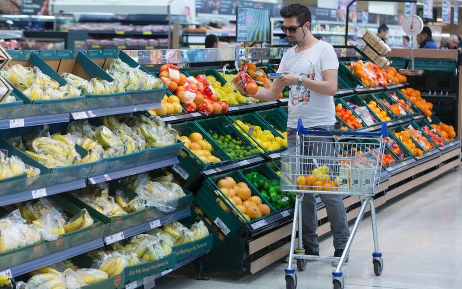
M145 277L161 273L175 267L175 254L171 253L162 259L125 267L125 283L134 282Z

